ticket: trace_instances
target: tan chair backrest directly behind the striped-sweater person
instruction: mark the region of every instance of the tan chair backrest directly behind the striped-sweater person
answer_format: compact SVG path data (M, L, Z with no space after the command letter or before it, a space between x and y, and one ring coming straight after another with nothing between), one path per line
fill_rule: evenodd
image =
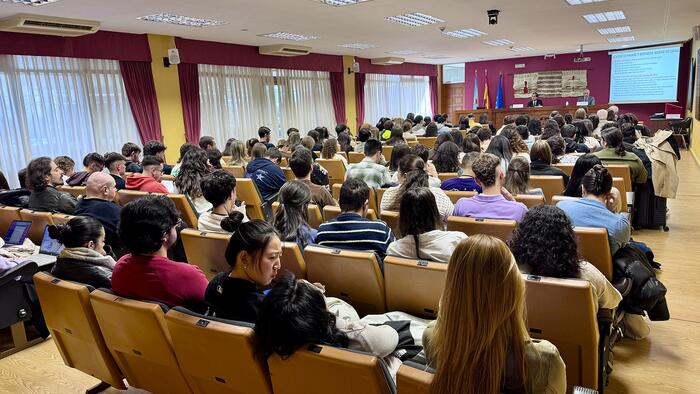
M384 313L384 278L374 252L307 246L306 276L323 283L326 295L341 298L362 315Z

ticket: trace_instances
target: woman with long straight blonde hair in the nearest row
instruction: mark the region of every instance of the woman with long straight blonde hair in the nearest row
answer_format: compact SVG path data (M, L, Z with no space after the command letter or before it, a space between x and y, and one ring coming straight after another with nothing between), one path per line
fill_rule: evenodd
M440 311L424 334L431 393L565 393L556 347L530 339L525 283L503 241L475 235L448 263Z

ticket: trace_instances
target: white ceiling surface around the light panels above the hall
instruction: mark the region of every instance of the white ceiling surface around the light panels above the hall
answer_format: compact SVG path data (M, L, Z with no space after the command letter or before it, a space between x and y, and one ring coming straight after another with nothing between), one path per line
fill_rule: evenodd
M495 26L489 26L486 10L499 9ZM627 20L589 24L582 15L623 10ZM161 12L216 19L221 26L195 28L137 20ZM445 23L407 27L388 22L387 16L422 12ZM285 31L318 36L307 45L313 52L359 57L386 57L389 51L418 51L401 56L418 63L446 64L483 59L570 53L585 44L586 51L684 41L691 27L700 23L700 0L607 0L570 6L565 0L371 0L345 7L333 7L315 0L60 0L39 7L0 2L0 17L32 13L98 20L103 30L155 33L208 41L247 45L277 44L283 41L258 34ZM629 25L636 41L609 44L596 29ZM484 37L457 39L440 32L473 28ZM624 36L629 33L622 34ZM509 39L515 47L532 47L516 53L508 47L489 47L481 41ZM362 42L379 48L353 50L340 44ZM295 43L288 41L288 43ZM428 59L426 56L444 56Z

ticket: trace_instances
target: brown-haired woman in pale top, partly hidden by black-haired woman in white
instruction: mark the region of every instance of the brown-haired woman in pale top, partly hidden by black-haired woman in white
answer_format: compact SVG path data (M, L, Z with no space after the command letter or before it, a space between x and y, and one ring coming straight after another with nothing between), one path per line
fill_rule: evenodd
M420 157L407 155L399 163L399 185L388 188L382 196L380 210L398 212L401 207L401 199L408 190L416 187L429 187L428 173L425 172L425 163ZM454 211L452 200L444 191L437 187L430 187L430 192L435 195L438 212L444 224Z

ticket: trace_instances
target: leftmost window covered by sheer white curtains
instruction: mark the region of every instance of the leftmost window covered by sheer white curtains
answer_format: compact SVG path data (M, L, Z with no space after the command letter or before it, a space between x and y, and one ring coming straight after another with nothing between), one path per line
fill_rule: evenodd
M90 152L119 151L139 134L115 60L0 56L0 169L67 155L79 169Z

